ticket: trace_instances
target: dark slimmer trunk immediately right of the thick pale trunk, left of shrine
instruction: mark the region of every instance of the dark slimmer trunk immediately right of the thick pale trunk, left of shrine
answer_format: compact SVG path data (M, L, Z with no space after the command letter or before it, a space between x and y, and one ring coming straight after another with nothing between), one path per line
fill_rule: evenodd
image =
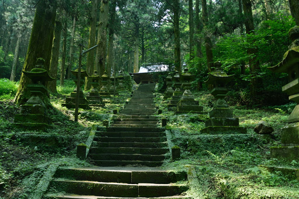
M116 12L116 1L112 1L111 4L111 18L109 22L109 39L108 39L108 52L107 52L107 74L110 76L111 68L113 63L113 40L114 40L114 28L115 26L115 12ZM113 71L114 72L114 71Z

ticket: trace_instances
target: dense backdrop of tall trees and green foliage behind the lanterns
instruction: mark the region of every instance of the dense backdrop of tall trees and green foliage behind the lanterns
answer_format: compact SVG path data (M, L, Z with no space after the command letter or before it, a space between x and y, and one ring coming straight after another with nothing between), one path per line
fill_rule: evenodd
M112 75L114 69L138 72L148 63L166 63L180 72L186 61L189 71L196 75L193 88L200 89L213 70L213 62L221 61L226 72L237 74L231 83L235 102L286 102L280 92L286 75L273 74L267 67L278 64L287 50L288 30L295 25L292 15L296 17L298 11L296 1L49 0L43 4L39 8L34 0L3 0L0 78L19 81L23 66L30 70L35 64L30 58L26 61L27 51L38 49L40 43L51 45L33 41L28 49L30 34L39 29L31 33L37 15L37 26L46 24L49 38L53 38L51 50L44 54L51 54L51 63L46 60L46 64L61 86L71 78L70 70L77 67L80 44L84 49L98 44L97 50L83 58L89 75L93 70L100 75L105 70ZM23 82L21 79L16 104L24 102L19 100ZM48 87L57 92L56 82ZM89 89L86 81L85 90ZM1 95L16 94L7 92Z

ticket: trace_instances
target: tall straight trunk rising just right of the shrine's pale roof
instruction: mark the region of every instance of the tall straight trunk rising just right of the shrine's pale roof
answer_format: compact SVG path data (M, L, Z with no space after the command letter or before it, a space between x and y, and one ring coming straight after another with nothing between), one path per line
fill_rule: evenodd
M179 0L173 1L173 31L174 31L174 65L176 70L181 74L181 42L179 28Z

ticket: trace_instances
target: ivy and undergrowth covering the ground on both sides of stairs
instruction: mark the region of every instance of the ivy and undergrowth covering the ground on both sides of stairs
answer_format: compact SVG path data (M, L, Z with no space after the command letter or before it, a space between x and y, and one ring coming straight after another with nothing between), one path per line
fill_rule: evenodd
M51 95L50 115L54 128L47 133L15 129L12 122L19 107L12 103L12 92L0 95L1 199L28 198L33 191L45 186L48 179L45 174L57 166L91 166L88 161L76 158L76 145L86 141L92 124L101 126L103 120L111 120L112 110L120 109L130 96L129 91L120 92L120 96L113 97L103 108L81 109L79 121L74 122L74 110L61 107L73 89L74 83L67 81L64 87L58 87L58 94ZM280 172L269 172L263 166L280 164L270 159L269 147L280 145L279 129L286 124L295 104L253 108L231 103L235 117L239 117L240 126L247 127L248 134L211 136L202 135L200 129L204 128L212 109L213 96L208 90L194 92L194 95L204 107L203 114L174 115L173 110L166 109L162 94L155 93L155 103L163 110L160 116L168 120L166 128L171 141L181 147L181 160L166 161L163 168L184 170L193 176L187 195L193 198L299 198L298 181L289 180ZM229 97L227 101L230 102ZM253 131L261 120L274 127L272 136L259 136ZM37 135L35 140L31 135ZM296 161L284 164L299 166Z

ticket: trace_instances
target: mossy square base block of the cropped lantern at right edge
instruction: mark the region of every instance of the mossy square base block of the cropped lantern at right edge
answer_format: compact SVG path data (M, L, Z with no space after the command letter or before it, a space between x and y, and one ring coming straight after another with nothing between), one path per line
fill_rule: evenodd
M299 146L270 147L271 158L285 159L286 161L299 160Z

